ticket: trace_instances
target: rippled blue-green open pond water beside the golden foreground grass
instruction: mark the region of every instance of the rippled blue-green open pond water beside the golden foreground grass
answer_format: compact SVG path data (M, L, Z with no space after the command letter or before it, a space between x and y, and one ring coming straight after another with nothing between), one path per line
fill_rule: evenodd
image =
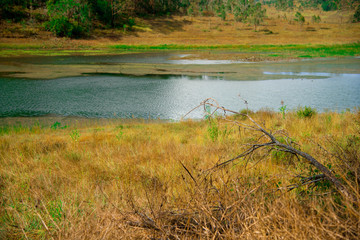
M166 61L167 58L159 55L157 60ZM88 57L80 59L91 61ZM41 64L40 60L38 64ZM71 61L75 62L69 61L66 64L76 62L74 59ZM234 81L206 74L197 77L92 75L52 80L0 77L0 117L50 114L179 120L209 97L232 110L246 108L241 98L246 99L248 107L255 111L263 108L278 111L281 101L287 109L311 106L318 111L353 110L360 106L360 59L351 60L353 71L349 71L348 63L341 61L325 61L330 66L328 68L324 68L323 61L314 61L313 64L307 61L303 67L299 62L287 67L254 63L254 68L263 69L263 80L257 81ZM342 64L347 67L343 72ZM322 67L316 68L316 65ZM267 80L273 79L267 78L273 75L279 76L278 79ZM201 111L190 115L191 118L202 116Z

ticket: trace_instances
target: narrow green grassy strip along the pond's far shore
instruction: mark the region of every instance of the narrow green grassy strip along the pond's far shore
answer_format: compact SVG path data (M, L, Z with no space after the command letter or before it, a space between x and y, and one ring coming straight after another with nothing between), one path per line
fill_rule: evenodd
M360 43L312 45L108 45L102 47L75 46L73 49L63 49L53 45L10 45L0 44L1 56L65 56L65 55L102 55L126 54L134 52L186 51L196 55L196 58L213 58L233 60L236 57L253 57L257 61L283 60L297 58L344 57L359 56ZM211 51L211 52L209 52ZM232 51L231 54L224 53ZM241 56L242 55L242 56Z

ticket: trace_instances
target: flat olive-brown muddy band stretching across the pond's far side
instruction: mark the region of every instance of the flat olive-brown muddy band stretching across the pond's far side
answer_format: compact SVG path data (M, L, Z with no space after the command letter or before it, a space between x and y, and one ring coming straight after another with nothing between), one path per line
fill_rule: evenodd
M230 54L227 54L230 56ZM242 54L232 55L234 59L244 56ZM141 58L141 54L137 56ZM311 71L312 65L317 64L320 69L317 71L331 73L359 74L358 58L328 58L328 59L307 59L307 60L286 60L286 61L254 61L235 62L229 64L191 64L192 60L214 59L210 53L186 55L178 59L187 60L189 64L167 64L167 63L83 63L83 64L30 64L21 63L7 58L8 61L0 61L0 76L4 78L24 79L56 79L64 77L78 77L84 75L119 75L119 76L209 76L220 77L227 80L263 80L264 72L272 71L272 66L280 66L284 72L291 68L292 71ZM46 59L46 58L45 58ZM215 59L214 59L215 60ZM239 60L238 60L239 61ZM338 62L341 61L341 66ZM174 61L176 63L176 61ZM329 69L327 67L331 65ZM266 75L266 79L278 79L284 76L276 74ZM292 78L296 78L293 76ZM306 78L306 77L305 77Z

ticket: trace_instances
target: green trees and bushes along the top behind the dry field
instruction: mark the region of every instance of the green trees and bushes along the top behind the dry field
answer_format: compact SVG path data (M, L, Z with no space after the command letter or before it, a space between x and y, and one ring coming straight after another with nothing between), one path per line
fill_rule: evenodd
M0 18L31 21L57 36L80 37L93 28L131 29L134 17L218 16L258 25L265 16L264 4L279 10L322 8L332 11L357 6L360 0L0 0Z

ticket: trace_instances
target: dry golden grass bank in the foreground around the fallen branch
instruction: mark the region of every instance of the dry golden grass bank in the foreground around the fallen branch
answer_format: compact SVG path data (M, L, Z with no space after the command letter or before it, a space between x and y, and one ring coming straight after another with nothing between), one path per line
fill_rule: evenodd
M0 238L357 239L359 112L251 116L286 130L355 203L324 179L304 184L318 170L276 149L206 171L258 137L220 119L10 122L0 127Z

